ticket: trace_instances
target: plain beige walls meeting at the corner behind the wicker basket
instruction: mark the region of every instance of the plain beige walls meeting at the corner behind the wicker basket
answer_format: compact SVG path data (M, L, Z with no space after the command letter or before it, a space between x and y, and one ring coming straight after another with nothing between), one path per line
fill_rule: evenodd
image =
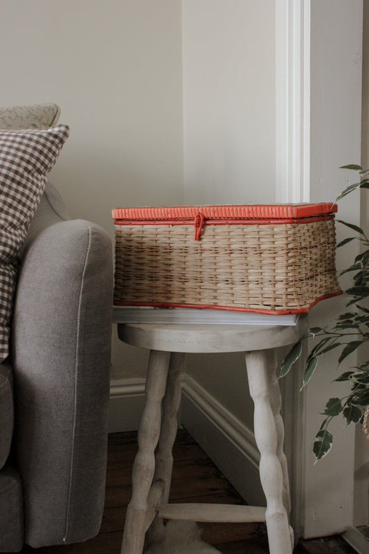
M60 105L71 136L51 181L72 217L113 237L118 205L273 202L274 0L0 4L0 105ZM113 382L146 360L114 328ZM241 416L242 358L192 361Z

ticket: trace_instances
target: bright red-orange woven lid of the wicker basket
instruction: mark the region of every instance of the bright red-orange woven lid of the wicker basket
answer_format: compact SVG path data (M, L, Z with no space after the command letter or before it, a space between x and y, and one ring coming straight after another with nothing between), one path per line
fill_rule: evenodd
M244 204L223 206L142 206L115 208L114 220L155 221L193 220L198 215L210 220L291 220L336 213L337 205L320 204Z

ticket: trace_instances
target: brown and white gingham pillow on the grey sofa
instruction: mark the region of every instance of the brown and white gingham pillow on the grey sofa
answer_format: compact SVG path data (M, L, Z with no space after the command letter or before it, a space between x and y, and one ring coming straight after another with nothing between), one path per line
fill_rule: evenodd
M9 323L21 247L69 127L0 130L0 362L8 356Z

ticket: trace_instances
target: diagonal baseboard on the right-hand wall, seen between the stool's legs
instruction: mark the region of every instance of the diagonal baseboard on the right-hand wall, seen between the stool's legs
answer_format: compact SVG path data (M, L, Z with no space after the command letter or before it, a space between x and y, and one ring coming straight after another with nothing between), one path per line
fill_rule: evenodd
M188 375L183 379L182 424L246 502L265 505L253 431Z

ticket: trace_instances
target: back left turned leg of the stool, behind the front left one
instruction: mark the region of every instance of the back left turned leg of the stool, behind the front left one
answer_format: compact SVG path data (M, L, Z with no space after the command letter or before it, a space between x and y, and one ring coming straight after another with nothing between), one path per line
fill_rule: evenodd
M167 387L162 402L161 430L159 447L155 458L154 482L163 481L164 492L161 502L168 503L170 481L172 480L173 454L172 449L177 435L177 412L181 401L181 373L185 355L172 352L168 370ZM147 531L147 544L159 542L163 537L163 519L156 517Z

